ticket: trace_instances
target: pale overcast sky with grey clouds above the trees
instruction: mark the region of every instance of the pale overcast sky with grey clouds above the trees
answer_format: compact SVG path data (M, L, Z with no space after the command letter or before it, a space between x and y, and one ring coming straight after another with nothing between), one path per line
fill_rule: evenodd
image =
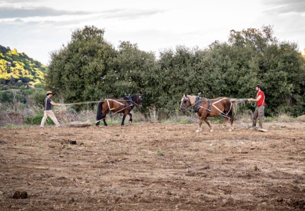
M71 41L77 28L105 29L115 48L119 41L140 50L204 49L226 42L230 30L273 26L279 41L305 48L304 0L0 0L0 45L17 49L43 64L49 53Z

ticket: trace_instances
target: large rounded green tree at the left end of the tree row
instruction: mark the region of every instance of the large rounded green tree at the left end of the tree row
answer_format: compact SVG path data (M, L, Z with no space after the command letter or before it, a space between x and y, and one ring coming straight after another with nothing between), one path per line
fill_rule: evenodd
M67 102L105 97L109 87L105 80L107 73L113 72L114 57L116 51L105 41L103 29L77 29L67 46L51 53L46 87Z

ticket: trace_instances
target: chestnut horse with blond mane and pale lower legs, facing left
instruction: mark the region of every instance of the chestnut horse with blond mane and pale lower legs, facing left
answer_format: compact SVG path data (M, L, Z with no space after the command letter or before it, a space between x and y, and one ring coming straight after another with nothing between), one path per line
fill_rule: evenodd
M222 116L225 118L223 128L227 126L227 122L230 119L231 127L229 131L234 130L234 119L232 116L233 101L230 99L226 97L207 99L204 97L187 95L184 93L184 96L181 99L180 110L186 110L190 107L192 107L194 112L196 112L196 114L200 117L199 128L196 130L196 132L201 132L201 125L203 120L209 126L210 131L214 131L209 122L209 117L217 116Z

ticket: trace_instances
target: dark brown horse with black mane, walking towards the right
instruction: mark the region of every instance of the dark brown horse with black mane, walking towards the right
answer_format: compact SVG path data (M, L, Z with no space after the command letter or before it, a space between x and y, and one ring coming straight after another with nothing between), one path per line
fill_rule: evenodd
M114 114L123 113L123 120L121 125L124 125L124 121L127 115L130 116L129 121L132 122L132 114L131 110L135 107L135 105L142 107L142 94L134 94L131 96L126 96L120 99L109 98L103 101L100 101L98 104L98 113L97 113L97 123L96 125L100 125L100 121L104 121L104 125L107 126L106 123L106 115L109 112Z

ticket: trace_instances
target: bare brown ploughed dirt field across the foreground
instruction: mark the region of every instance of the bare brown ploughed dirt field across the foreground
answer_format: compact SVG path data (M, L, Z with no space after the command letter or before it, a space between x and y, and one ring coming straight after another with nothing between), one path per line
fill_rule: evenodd
M0 129L1 210L304 210L305 122Z

